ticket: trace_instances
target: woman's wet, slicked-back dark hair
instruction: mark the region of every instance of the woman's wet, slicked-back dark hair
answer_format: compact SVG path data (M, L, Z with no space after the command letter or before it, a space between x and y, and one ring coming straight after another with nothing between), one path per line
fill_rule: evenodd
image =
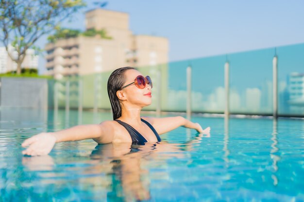
M121 67L116 69L110 75L108 79L108 95L110 98L110 103L112 107L113 120L118 119L121 116L121 106L116 95L116 92L119 91L123 84L126 82L124 72L129 69L135 69L134 67Z

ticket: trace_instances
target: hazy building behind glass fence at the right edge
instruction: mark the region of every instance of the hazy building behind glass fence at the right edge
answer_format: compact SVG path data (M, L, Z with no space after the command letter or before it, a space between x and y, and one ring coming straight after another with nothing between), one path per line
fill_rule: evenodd
M304 73L291 73L288 76L289 104L304 105Z

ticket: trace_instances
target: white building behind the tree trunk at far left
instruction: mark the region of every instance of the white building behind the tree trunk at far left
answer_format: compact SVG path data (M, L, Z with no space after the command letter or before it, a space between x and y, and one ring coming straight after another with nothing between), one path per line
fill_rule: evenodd
M8 51L11 53L13 57L17 58L17 51L14 47L9 46ZM25 58L21 64L21 68L38 68L38 55L35 55L34 49L27 49ZM0 74L4 74L6 72L16 71L17 63L14 62L8 55L5 47L0 47Z

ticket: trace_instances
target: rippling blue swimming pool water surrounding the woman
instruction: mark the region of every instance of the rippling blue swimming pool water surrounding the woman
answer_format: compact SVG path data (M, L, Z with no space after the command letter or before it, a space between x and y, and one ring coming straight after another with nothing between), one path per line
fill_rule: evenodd
M83 140L29 157L20 144L32 135L111 114L0 112L0 202L304 201L303 120L193 116L210 137L180 127L159 144Z

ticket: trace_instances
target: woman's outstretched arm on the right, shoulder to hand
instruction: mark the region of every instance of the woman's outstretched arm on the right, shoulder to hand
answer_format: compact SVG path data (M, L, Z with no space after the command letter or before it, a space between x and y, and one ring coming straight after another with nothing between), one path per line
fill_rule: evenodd
M146 117L144 117L146 118ZM197 130L199 133L209 133L210 127L207 127L203 130L202 126L198 123L193 123L182 116L175 117L165 117L165 118L152 118L147 117L147 121L150 121L158 134L164 134L179 126L183 126L186 128L192 128Z

